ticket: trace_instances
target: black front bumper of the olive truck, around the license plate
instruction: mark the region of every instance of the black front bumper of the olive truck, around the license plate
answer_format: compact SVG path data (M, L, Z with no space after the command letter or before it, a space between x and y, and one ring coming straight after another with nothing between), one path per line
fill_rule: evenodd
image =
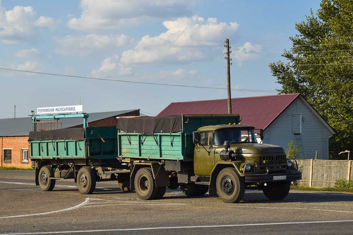
M274 176L286 176L286 179L276 179ZM279 177L277 177L279 178ZM245 174L245 183L267 183L273 181L301 180L301 172L278 173L278 174Z

